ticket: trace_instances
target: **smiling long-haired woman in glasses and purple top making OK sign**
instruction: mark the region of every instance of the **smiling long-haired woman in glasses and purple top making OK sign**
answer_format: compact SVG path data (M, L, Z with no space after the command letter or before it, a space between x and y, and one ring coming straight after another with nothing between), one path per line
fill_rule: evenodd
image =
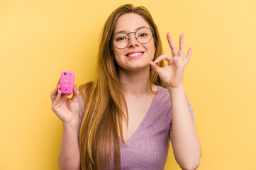
M61 95L59 82L51 93L63 123L60 169L164 169L169 139L182 169L199 166L201 145L182 84L192 48L184 58L183 37L177 50L167 33L172 56L162 55L145 7L127 4L111 13L95 80L74 86L71 99Z

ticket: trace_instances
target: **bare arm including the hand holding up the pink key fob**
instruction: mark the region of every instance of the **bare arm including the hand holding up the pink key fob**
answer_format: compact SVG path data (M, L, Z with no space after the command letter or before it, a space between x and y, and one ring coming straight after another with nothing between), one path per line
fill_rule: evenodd
M77 139L79 125L79 91L74 86L72 98L62 96L60 80L50 94L52 99L52 111L62 120L62 142L57 157L57 165L60 170L79 170L80 155Z

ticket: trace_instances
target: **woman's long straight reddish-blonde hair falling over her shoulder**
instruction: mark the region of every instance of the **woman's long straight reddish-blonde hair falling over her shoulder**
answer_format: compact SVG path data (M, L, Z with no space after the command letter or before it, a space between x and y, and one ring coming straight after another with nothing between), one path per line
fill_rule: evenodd
M126 4L111 13L103 30L101 30L95 79L79 87L79 92L85 103L79 134L79 151L81 169L83 170L109 169L111 157L115 169L121 169L118 131L121 140L123 140L122 120L126 118L128 123L128 111L126 100L120 88L118 64L114 59L111 38L116 27L116 21L125 13L135 13L145 19L153 30L156 49L154 60L162 55L160 34L147 8ZM160 62L158 66L163 67L164 63ZM160 77L150 69L149 86L151 91L152 84L164 86ZM127 114L122 109L122 103L124 103Z

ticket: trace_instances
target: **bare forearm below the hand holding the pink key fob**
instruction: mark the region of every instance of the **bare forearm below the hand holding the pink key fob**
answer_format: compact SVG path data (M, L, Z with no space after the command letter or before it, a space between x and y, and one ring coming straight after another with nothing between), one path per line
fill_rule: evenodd
M80 169L77 125L63 125L62 141L57 158L57 164L60 170Z

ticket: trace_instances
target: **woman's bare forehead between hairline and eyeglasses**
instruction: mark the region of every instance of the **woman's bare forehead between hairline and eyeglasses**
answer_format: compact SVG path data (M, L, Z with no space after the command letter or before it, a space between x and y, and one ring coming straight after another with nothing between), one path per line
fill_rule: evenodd
M143 17L135 13L126 13L118 18L116 22L115 33L122 30L127 32L134 31L136 28L143 26L150 28Z

